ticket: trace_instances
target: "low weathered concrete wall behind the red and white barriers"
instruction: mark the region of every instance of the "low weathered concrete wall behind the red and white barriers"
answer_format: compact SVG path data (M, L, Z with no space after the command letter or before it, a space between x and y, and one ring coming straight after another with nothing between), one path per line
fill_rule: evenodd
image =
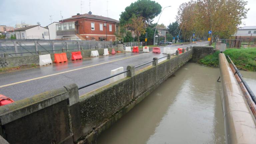
M122 51L123 47L115 47L115 51L119 50ZM81 54L83 58L89 58L91 56L92 50L98 50L99 55L103 55L104 48L97 48L97 49L89 49L89 50L82 50ZM108 48L108 51L111 52L112 48ZM67 54L68 60L71 60L71 52L64 52ZM59 52L62 53L62 52ZM51 53L51 59L54 61L54 53ZM39 64L39 55L29 55L29 56L17 56L17 57L0 57L0 68L4 67L15 67L15 66L21 66L21 65L30 65L30 64Z

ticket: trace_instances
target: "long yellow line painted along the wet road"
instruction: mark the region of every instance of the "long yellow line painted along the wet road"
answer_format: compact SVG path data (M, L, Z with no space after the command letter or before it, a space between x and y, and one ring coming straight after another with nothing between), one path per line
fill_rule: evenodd
M149 54L149 53L144 53L144 54ZM111 63L111 62L115 62L115 61L119 61L119 60L124 60L124 59L128 59L128 58L136 57L136 56L141 56L141 55L144 55L144 54L130 56L130 57L126 57L126 58L122 58L122 59L117 59L117 60L113 60L113 61L108 61L108 62L104 62L104 63L99 63L99 64L95 64L95 65L90 65L90 66L86 66L86 67L81 67L81 68L77 68L77 69L73 69L73 70L68 70L68 71L64 71L64 72L60 72L60 73L55 73L55 74L50 74L50 75L46 75L46 76L42 76L42 77L32 78L32 79L28 79L28 80L24 80L24 81L19 81L19 82L15 82L15 83L11 83L11 84L6 84L6 85L0 86L0 88L11 86L11 85L15 85L15 84L20 84L20 83L24 83L24 82L28 82L28 81L32 81L32 80L42 79L42 78L46 78L46 77L50 77L50 76L54 76L54 75L59 75L59 74L67 73L67 72L72 72L72 71L76 71L76 70L80 70L80 69L94 67L94 66L98 66L98 65L102 65L102 64L106 64L106 63Z

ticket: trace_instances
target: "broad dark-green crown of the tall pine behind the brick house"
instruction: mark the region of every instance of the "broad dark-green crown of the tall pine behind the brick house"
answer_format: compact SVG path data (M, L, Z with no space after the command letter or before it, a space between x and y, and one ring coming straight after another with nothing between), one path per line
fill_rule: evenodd
M150 23L161 12L161 5L151 0L138 0L125 8L120 15L120 25L125 25L133 15L143 17L143 21Z

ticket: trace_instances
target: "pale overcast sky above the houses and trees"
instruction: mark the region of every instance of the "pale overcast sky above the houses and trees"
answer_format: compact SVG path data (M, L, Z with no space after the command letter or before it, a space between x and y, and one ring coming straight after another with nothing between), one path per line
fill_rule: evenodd
M119 20L119 15L136 0L91 0L91 12L95 15L107 17L107 1L108 1L108 17ZM159 24L164 23L166 26L175 21L178 7L183 2L189 0L156 0L165 8L159 20ZM52 21L61 20L60 11L64 19L81 13L80 0L0 0L0 25L15 26L16 23L25 22L35 25L40 22L41 26L47 26ZM82 14L89 12L89 0L83 0ZM256 25L256 0L248 0L246 8L248 11L247 19L243 20L246 26ZM159 16L154 19L157 22ZM244 25L242 25L244 26Z

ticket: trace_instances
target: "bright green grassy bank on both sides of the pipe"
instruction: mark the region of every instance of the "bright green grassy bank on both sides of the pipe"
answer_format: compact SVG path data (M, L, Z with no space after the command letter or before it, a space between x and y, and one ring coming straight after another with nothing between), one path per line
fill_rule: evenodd
M219 55L220 51L214 52L212 55L208 55L198 62L211 67L219 66ZM242 68L248 71L256 71L256 48L246 48L246 49L227 49L224 51L225 55L229 55L237 68Z

